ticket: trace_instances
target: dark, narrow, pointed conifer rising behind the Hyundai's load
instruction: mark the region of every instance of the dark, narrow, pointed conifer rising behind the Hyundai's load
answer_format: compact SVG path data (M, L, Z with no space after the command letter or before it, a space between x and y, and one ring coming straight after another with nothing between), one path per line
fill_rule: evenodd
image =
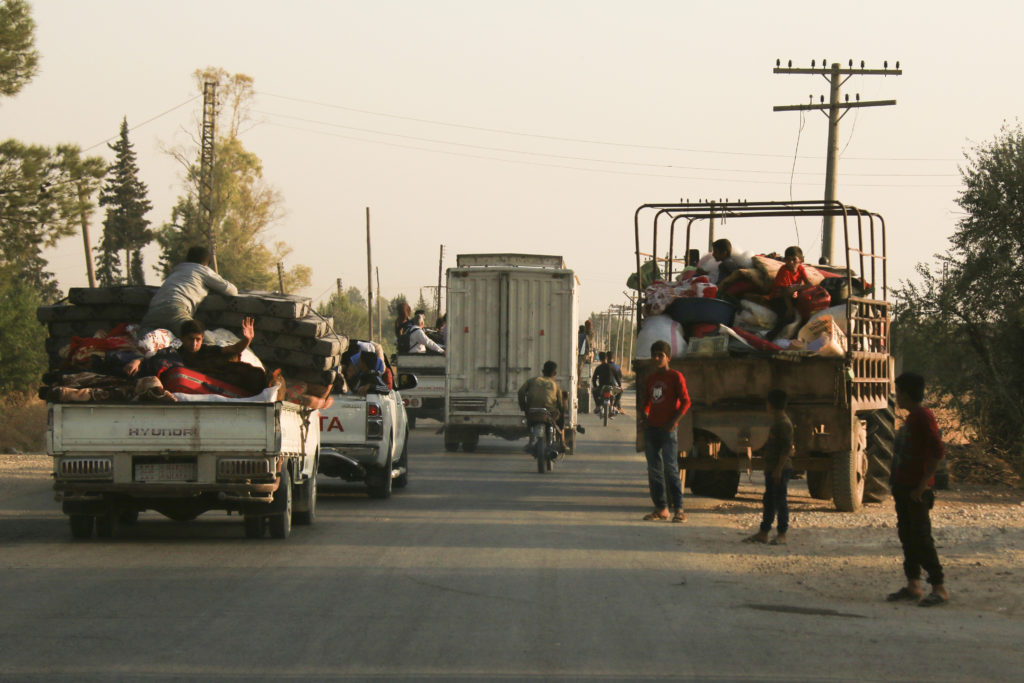
M122 282L120 275L120 250L124 251L125 282L144 285L142 272L142 247L153 242L153 230L145 214L153 208L146 197L145 183L138 178L135 151L128 140L128 120L121 120L121 135L109 145L115 160L106 174L106 183L99 196L99 206L106 207L103 220L103 239L100 242L96 263L101 285Z

